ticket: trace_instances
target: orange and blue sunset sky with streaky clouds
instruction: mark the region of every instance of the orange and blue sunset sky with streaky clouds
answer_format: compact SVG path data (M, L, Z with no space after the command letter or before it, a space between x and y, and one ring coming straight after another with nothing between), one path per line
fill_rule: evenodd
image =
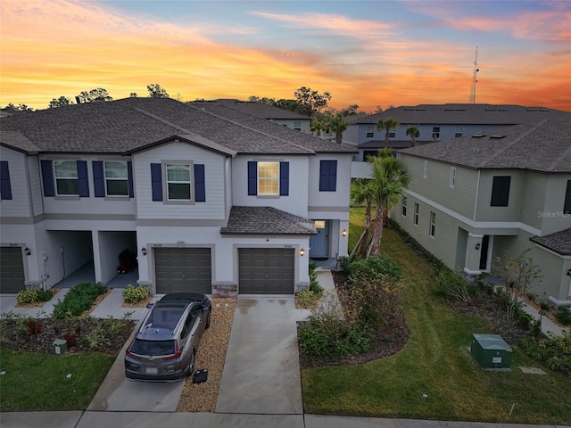
M571 2L2 0L0 106L113 99L158 83L182 101L476 103L571 111Z

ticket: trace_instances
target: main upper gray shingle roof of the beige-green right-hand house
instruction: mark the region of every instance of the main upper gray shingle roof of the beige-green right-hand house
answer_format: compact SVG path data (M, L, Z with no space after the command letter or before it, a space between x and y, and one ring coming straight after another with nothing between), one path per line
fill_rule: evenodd
M401 153L474 169L571 172L571 119L543 119L404 149Z

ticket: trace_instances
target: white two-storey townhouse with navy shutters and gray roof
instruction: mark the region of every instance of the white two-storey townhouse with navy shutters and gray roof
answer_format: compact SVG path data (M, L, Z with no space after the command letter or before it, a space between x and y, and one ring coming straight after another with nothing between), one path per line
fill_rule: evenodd
M128 98L0 120L1 292L137 255L139 284L294 293L347 254L352 152L218 103ZM317 227L317 229L316 229Z

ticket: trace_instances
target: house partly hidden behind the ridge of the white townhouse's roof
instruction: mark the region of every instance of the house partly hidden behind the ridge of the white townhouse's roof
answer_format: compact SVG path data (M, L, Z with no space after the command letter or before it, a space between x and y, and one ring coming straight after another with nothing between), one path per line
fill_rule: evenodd
M266 119L272 122L276 122L279 125L283 125L287 128L292 128L296 131L303 132L305 134L310 134L310 122L311 118L309 116L304 116L294 111L289 111L285 109L280 109L279 107L269 105L266 103L257 103L252 101L239 101L228 98L221 98L215 101L194 101L192 104L201 105L203 103L219 103L230 107L231 109L242 111L243 113L251 114L256 118Z

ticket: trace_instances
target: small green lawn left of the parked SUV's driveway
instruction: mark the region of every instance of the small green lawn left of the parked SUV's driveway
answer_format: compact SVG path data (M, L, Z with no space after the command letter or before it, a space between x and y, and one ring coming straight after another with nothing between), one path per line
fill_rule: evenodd
M0 371L5 372L0 375L0 408L86 409L114 360L99 352L46 355L0 348Z

